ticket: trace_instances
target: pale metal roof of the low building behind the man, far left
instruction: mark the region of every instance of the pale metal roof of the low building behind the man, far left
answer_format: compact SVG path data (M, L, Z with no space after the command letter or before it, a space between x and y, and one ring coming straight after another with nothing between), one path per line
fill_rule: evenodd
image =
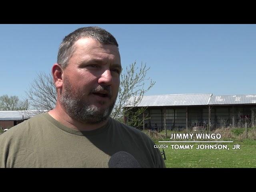
M47 111L48 110L0 111L0 120L23 120Z

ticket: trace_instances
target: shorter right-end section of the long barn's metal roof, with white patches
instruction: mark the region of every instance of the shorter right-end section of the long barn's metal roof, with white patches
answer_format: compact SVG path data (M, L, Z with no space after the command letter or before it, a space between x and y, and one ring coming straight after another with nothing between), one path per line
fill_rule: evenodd
M256 104L256 95L219 95L212 96L209 105Z

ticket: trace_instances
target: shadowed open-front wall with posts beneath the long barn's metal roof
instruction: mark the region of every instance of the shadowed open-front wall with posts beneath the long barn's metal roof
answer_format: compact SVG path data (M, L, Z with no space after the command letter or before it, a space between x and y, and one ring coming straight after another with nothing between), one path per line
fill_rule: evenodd
M233 112L234 110L234 112ZM245 123L250 126L252 118L256 116L256 105L240 106L211 106L211 127L232 126L234 116L234 126L243 127ZM208 126L208 106L188 106L188 128L193 126ZM254 117L252 117L254 115ZM148 107L144 112L145 129L164 129L164 107ZM143 115L140 115L143 118ZM256 121L254 120L254 124ZM186 107L166 107L166 128L168 130L186 129Z

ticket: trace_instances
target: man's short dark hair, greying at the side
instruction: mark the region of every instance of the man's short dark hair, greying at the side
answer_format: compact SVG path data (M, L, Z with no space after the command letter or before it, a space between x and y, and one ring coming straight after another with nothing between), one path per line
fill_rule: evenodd
M111 44L118 47L118 43L114 36L100 27L82 27L68 34L62 41L58 51L57 63L66 68L70 57L74 53L74 43L81 38L94 38L101 44Z

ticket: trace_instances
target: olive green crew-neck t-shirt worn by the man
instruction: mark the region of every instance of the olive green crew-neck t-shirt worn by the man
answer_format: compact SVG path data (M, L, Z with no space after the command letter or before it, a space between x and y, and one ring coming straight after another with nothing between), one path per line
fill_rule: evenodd
M96 130L78 131L46 112L0 135L2 168L108 168L119 151L134 156L142 168L165 168L146 134L112 118Z

